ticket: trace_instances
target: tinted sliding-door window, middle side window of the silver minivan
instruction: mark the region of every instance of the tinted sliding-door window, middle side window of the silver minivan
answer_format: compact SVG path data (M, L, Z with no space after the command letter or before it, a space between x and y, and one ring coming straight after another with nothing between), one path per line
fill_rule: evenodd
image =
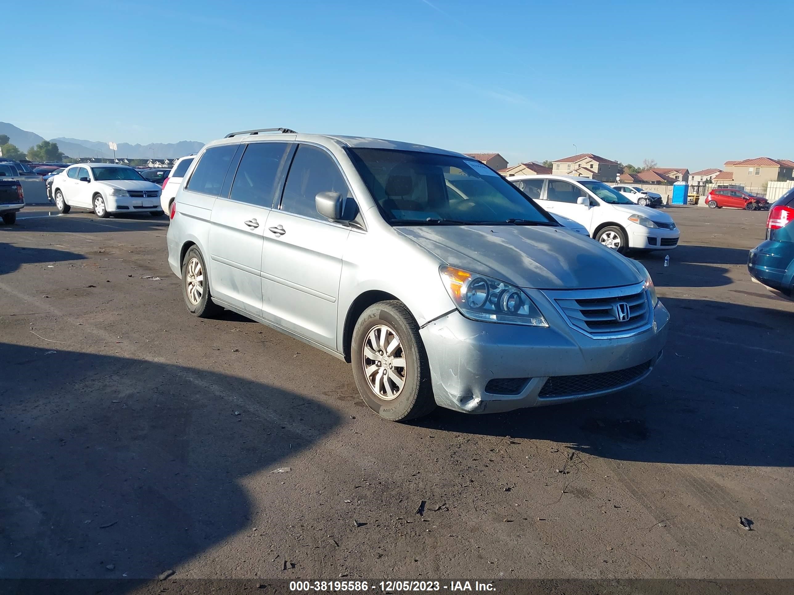
M287 143L252 143L237 167L229 198L251 205L272 207L279 167L287 154Z

